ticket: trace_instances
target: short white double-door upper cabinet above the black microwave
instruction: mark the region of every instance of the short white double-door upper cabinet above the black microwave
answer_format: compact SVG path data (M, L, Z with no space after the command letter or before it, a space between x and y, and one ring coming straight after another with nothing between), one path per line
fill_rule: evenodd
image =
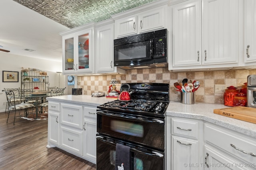
M165 28L167 2L156 1L112 16L115 20L115 39Z

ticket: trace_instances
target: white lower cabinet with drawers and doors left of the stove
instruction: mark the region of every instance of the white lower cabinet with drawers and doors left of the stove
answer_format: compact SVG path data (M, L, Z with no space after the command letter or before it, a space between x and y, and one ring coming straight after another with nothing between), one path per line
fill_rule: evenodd
M58 147L96 164L96 106L50 100L48 106L47 147Z

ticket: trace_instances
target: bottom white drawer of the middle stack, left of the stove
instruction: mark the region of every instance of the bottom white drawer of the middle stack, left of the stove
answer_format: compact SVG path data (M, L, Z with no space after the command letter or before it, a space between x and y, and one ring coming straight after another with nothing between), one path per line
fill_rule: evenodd
M83 131L76 131L67 127L60 127L60 146L71 152L82 155Z

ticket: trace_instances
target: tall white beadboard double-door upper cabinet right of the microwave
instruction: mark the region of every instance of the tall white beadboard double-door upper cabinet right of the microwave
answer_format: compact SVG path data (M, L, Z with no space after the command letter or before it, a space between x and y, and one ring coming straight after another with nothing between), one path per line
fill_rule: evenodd
M238 8L238 0L188 0L173 5L169 70L238 66Z

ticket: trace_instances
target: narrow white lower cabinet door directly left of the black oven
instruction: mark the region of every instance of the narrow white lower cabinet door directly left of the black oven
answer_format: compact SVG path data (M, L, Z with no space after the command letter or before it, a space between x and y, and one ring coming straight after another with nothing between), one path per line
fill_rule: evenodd
M84 151L86 160L96 164L96 133L97 123L89 119L84 119Z

